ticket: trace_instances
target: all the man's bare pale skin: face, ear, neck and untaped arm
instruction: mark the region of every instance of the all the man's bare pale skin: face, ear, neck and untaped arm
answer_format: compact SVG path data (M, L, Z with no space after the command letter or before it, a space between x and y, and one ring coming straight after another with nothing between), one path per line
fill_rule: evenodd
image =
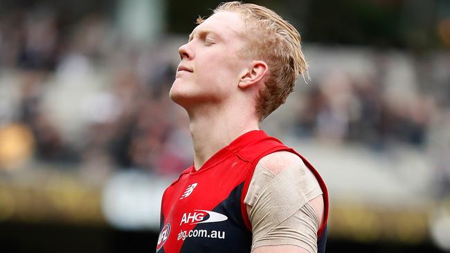
M170 97L188 112L197 170L235 138L260 128L256 97L269 68L265 62L242 54L245 33L239 14L218 12L199 24L189 42L179 48L181 63ZM259 165L279 174L299 160L293 153L276 152L262 158ZM322 196L310 203L322 223ZM295 245L276 245L258 247L253 252L307 251Z

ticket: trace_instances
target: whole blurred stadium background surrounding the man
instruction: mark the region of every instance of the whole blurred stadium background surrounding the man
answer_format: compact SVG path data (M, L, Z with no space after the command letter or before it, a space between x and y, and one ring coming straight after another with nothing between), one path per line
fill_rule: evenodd
M304 38L264 129L323 174L327 252L450 251L450 1L249 2ZM154 251L192 158L177 48L218 3L0 1L1 252Z

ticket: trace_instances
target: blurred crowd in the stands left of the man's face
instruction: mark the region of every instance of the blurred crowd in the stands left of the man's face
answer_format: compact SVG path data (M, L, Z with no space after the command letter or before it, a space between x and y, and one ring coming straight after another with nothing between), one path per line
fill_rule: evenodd
M158 59L158 46L127 41L98 15L70 31L57 21L45 9L0 18L0 135L8 139L0 167L24 160L29 146L37 161L81 163L93 174L188 167L187 116L169 101L174 66ZM30 145L11 145L27 136Z

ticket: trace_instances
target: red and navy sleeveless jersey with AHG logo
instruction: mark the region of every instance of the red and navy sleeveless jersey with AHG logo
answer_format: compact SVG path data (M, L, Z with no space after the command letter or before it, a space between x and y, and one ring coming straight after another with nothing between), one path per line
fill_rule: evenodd
M217 151L201 169L189 167L163 194L156 252L250 252L251 224L244 198L258 161L269 153L290 151L264 131L244 133ZM318 252L325 252L328 194L323 191L324 221L318 230Z

